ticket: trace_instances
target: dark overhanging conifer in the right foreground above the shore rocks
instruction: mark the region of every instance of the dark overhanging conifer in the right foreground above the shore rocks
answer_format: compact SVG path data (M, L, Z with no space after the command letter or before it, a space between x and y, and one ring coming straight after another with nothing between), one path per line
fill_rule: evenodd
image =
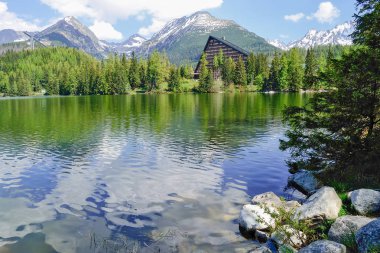
M316 94L305 107L286 109L284 118L291 129L286 133L288 139L281 141L281 148L290 151L292 166L330 168L330 175L341 172L341 181L355 175L357 182L368 178L378 182L380 50L372 47L377 38L373 22L379 19L380 3L358 4L369 9L359 11L363 17L357 19L362 25L355 36L368 44L344 51L339 59L327 59L329 70L323 78L334 89Z

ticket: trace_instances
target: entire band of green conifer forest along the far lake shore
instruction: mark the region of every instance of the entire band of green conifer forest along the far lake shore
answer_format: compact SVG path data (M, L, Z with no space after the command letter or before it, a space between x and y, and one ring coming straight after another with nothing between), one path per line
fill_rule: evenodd
M133 90L169 90L181 92L184 83L197 92L223 89L258 91L298 91L320 89L328 83L319 78L331 66L331 60L343 48L291 49L289 52L253 54L247 63L235 62L221 51L208 69L201 58L199 82L193 79L191 65L171 64L165 53L153 52L147 59L134 53L110 55L99 61L72 48L54 47L9 51L0 57L0 93L10 96L114 95ZM305 56L306 54L306 56ZM215 88L216 87L216 88Z

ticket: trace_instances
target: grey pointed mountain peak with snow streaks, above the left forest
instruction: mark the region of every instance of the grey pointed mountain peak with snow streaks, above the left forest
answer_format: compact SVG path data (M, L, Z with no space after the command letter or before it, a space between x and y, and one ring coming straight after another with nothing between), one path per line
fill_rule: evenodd
M95 34L74 17L66 17L36 35L45 46L67 46L102 57L106 48Z

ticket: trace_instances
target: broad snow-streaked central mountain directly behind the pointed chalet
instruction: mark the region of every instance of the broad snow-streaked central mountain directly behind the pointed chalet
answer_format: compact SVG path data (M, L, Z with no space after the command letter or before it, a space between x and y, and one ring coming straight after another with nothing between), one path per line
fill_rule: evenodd
M208 12L196 12L169 22L142 44L138 54L146 56L153 50L159 50L165 51L175 63L196 62L210 35L225 37L247 51L271 52L277 49L234 21L218 19Z

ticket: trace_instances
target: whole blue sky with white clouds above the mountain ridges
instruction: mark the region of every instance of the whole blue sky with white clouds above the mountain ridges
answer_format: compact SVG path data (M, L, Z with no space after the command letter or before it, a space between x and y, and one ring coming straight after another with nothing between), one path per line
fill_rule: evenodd
M352 20L354 0L0 0L0 30L40 30L75 16L101 39L134 33L149 38L173 18L199 10L235 20L267 39L285 42L308 30L327 30Z

